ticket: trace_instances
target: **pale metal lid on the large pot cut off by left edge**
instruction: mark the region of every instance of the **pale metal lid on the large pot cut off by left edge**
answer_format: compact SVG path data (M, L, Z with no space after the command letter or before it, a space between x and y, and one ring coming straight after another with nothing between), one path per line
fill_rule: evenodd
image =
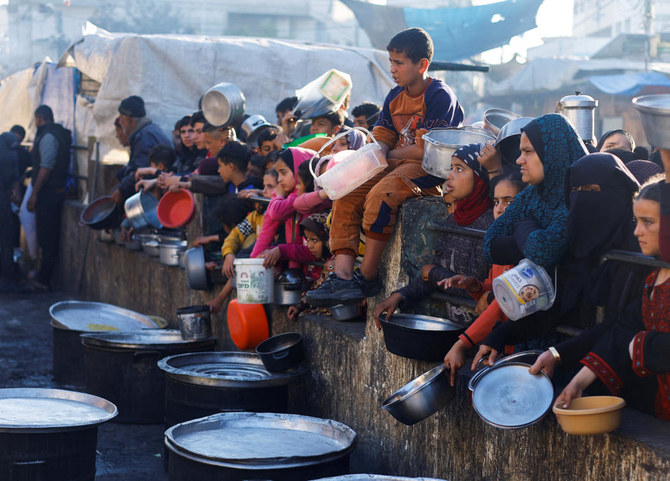
M118 414L98 396L63 389L0 389L0 432L63 431L93 426Z

